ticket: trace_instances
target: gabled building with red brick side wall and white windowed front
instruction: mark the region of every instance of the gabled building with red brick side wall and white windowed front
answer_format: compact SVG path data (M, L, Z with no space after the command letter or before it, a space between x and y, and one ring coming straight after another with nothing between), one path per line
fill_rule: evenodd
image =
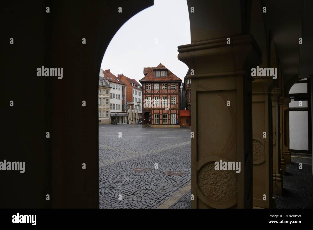
M126 107L127 110L138 110L139 120L142 119L142 86L135 80L126 77L123 74L117 74L117 78L127 84L126 86Z

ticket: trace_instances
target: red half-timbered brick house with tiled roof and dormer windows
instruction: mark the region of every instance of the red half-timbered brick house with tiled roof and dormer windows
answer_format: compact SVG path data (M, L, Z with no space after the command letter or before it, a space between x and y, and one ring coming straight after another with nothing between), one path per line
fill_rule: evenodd
M142 84L142 125L150 122L151 127L179 128L182 79L161 63L157 67L144 68L143 74L145 77L139 80Z

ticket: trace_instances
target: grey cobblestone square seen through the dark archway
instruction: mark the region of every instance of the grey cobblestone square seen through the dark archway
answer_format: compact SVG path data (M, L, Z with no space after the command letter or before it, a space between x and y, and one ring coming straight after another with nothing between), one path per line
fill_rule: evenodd
M118 138L119 132L122 138ZM100 208L160 206L190 183L190 155L190 128L99 125ZM154 169L155 163L158 169ZM152 171L132 171L141 167ZM163 174L170 170L186 174Z

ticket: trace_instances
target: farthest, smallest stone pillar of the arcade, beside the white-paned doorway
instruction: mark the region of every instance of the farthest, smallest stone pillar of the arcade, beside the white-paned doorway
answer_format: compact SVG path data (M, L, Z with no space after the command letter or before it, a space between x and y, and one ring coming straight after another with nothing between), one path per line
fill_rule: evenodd
M282 104L283 115L283 156L285 164L291 164L291 153L289 150L289 103L290 99L285 97Z

